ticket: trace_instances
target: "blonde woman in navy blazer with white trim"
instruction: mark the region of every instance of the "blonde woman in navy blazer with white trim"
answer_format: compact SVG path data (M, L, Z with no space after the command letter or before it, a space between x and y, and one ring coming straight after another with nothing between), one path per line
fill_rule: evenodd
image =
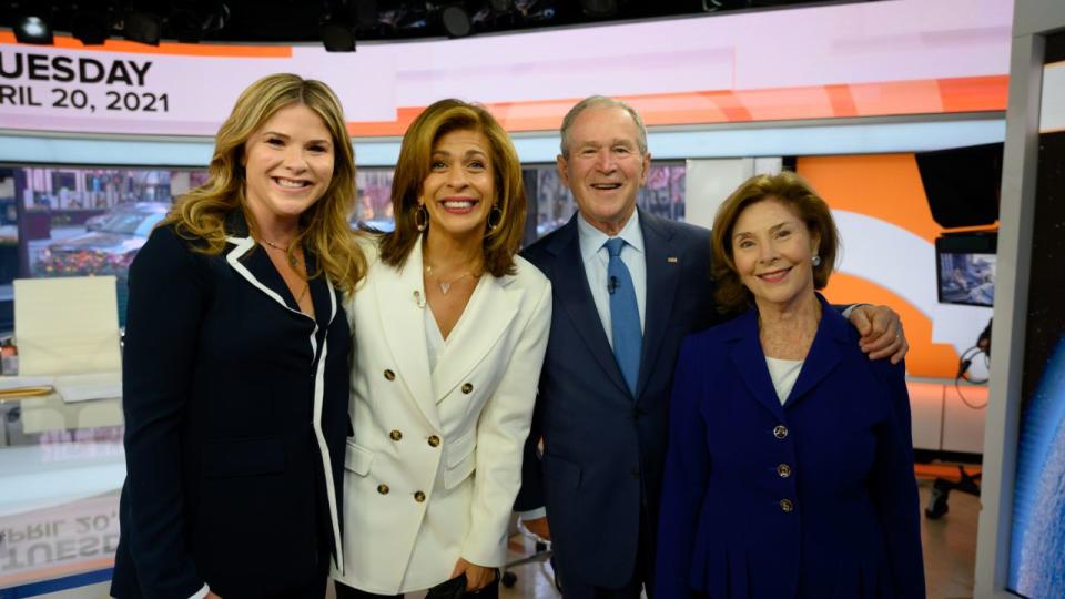
M332 90L265 77L134 260L114 597L323 597L343 561L341 294L366 270L354 191Z

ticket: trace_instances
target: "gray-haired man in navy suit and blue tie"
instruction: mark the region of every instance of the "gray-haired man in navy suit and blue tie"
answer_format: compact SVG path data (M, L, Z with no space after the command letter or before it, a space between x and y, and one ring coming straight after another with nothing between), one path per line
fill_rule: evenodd
M523 254L550 278L555 305L515 509L552 540L567 599L635 599L652 580L677 353L718 317L710 232L636 207L651 155L623 102L575 105L557 160L579 210ZM902 358L897 315L851 312L870 357Z

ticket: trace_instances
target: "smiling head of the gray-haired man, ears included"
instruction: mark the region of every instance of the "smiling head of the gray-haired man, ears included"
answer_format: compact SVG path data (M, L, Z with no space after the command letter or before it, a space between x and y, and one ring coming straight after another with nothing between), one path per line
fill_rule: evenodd
M585 220L613 235L636 210L636 194L647 180L651 155L641 153L639 130L620 106L591 106L568 132L568 156L558 172L574 192Z

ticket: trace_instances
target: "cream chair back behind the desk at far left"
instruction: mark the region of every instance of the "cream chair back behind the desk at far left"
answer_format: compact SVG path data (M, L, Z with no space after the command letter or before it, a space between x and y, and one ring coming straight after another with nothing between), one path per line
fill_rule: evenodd
M16 280L14 337L21 375L120 372L115 277Z

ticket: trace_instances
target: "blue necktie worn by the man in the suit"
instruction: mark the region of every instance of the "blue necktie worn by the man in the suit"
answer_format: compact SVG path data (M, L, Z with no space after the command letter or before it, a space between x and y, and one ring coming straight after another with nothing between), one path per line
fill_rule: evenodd
M610 253L607 265L607 290L610 292L610 329L613 336L613 357L621 367L626 385L636 397L640 376L640 353L643 333L640 329L640 308L636 304L636 288L629 268L621 262L625 240L615 237L604 244Z

